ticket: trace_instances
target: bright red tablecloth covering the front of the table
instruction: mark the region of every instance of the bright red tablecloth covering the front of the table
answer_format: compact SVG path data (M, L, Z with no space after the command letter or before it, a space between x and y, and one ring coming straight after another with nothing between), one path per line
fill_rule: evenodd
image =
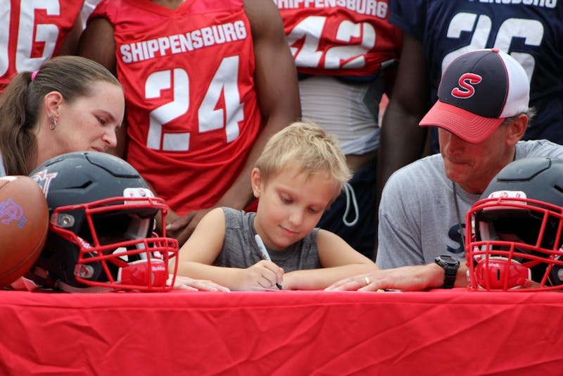
M556 292L0 292L0 374L561 375Z

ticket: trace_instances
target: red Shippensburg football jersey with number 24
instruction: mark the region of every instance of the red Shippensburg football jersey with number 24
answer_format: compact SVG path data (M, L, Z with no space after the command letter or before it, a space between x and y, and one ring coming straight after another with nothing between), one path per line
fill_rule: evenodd
M208 208L260 131L251 27L242 0L102 1L127 102L127 161L174 211ZM250 179L250 177L248 177Z

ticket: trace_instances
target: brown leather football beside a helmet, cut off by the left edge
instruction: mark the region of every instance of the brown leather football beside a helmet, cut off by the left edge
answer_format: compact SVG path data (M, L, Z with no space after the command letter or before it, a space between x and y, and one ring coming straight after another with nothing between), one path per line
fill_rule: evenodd
M31 177L0 177L0 288L37 261L47 237L49 208Z

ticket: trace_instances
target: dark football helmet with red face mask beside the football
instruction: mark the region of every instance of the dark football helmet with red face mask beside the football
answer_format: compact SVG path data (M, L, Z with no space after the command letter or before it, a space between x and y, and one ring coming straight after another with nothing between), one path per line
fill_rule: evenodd
M108 153L75 152L30 176L46 196L49 233L27 277L67 292L172 289L178 243L164 225L162 236L153 232L169 208L132 165Z

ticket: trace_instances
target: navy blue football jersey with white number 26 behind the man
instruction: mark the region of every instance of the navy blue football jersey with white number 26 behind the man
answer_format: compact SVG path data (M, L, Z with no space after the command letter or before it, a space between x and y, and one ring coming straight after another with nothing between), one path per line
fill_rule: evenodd
M424 46L433 103L448 63L467 51L496 47L521 63L530 79L530 106L537 115L524 139L563 144L563 4L557 0L390 0L389 5L390 22Z

